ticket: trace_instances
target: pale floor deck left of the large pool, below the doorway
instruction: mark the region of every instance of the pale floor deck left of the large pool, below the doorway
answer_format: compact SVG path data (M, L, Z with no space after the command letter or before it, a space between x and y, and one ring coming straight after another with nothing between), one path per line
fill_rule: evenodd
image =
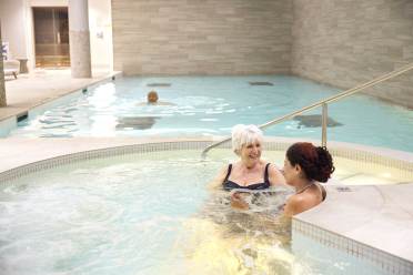
M4 77L8 105L0 108L0 122L119 74L120 72L93 70L93 78L91 79L72 79L70 69L36 69L30 73L19 74L18 79Z

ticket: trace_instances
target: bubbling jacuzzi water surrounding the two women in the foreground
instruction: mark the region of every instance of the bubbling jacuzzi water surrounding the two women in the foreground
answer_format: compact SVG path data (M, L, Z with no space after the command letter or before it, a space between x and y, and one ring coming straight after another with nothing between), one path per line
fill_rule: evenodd
M282 160L268 152L268 160ZM349 274L351 258L295 253L280 205L289 191L229 206L205 183L233 160L216 150L113 156L0 189L1 274ZM252 200L251 200L252 201ZM312 245L312 248L314 246ZM326 258L323 258L326 257ZM328 261L326 261L328 259ZM363 265L363 274L377 274Z

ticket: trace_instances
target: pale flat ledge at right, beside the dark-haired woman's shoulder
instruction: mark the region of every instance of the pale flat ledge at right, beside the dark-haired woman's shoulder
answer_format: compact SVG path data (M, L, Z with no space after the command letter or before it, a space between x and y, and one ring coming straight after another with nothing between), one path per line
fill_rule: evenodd
M328 186L328 194L295 218L413 263L413 183Z

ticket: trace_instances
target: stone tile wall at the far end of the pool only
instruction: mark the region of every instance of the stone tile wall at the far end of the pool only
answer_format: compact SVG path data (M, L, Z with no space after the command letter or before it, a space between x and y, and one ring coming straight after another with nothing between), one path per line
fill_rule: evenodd
M290 0L112 0L124 74L290 73Z

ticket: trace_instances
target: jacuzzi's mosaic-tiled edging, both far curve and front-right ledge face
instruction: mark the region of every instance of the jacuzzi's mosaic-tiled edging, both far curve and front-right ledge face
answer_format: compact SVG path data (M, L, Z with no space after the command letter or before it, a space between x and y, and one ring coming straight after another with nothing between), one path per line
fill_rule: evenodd
M0 173L0 187L3 187L9 181L18 177L39 172L42 170L58 167L64 164L71 164L74 162L97 160L112 156L122 156L129 154L144 154L152 152L162 151L181 151L181 150L201 150L212 144L211 140L200 141L157 141L157 142L141 142L129 145L108 146L103 149L81 151L70 154L63 154L32 163L28 163L4 172ZM274 141L268 139L264 146L269 151L285 151L293 141ZM220 145L223 149L230 149L230 143ZM350 147L338 147L330 146L330 152L334 156L346 157L355 161L373 162L377 164L384 164L402 170L413 171L413 161L396 160L390 156L383 156L374 154L373 152L366 152L361 150L352 150ZM413 172L411 173L413 174ZM292 222L292 236L302 234L305 237L312 238L321 245L326 245L345 252L346 254L356 256L359 259L367 261L374 264L377 268L392 274L413 274L413 263L395 255L389 254L384 251L373 248L369 245L360 243L357 241L347 238L343 235L326 231L313 224L309 224L304 221L293 218Z

